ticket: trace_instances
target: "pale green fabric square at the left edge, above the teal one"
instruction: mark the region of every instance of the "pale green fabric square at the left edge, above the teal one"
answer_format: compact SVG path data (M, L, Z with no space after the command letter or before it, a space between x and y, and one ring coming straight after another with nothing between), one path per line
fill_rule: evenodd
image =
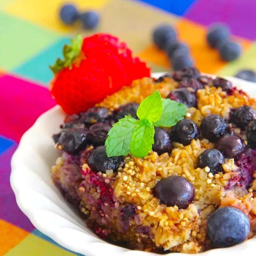
M3 12L0 12L0 24L0 68L5 70L17 67L60 38L56 33Z

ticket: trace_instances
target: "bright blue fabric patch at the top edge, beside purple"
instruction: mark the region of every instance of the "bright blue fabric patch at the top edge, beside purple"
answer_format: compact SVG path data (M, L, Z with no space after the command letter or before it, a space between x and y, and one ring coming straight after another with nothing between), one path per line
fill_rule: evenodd
M154 5L167 12L172 12L176 15L182 15L188 7L196 0L140 0L145 3Z

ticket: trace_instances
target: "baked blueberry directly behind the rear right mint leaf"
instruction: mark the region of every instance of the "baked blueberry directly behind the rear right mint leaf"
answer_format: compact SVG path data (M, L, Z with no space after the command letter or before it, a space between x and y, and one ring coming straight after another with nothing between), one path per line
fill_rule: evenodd
M185 104L188 108L196 106L196 96L186 88L172 90L167 98Z

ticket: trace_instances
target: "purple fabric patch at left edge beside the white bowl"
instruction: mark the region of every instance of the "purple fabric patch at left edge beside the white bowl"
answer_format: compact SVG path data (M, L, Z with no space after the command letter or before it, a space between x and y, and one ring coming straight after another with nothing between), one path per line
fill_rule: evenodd
M34 226L16 204L10 185L10 162L16 148L17 144L14 144L0 154L0 218L31 232Z

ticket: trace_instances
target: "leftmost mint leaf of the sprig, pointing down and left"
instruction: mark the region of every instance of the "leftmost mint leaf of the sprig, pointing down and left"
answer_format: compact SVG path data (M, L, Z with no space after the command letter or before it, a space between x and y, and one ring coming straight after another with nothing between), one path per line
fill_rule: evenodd
M118 155L128 155L130 153L130 142L132 131L139 122L131 116L120 119L108 132L105 141L106 153L108 157Z

